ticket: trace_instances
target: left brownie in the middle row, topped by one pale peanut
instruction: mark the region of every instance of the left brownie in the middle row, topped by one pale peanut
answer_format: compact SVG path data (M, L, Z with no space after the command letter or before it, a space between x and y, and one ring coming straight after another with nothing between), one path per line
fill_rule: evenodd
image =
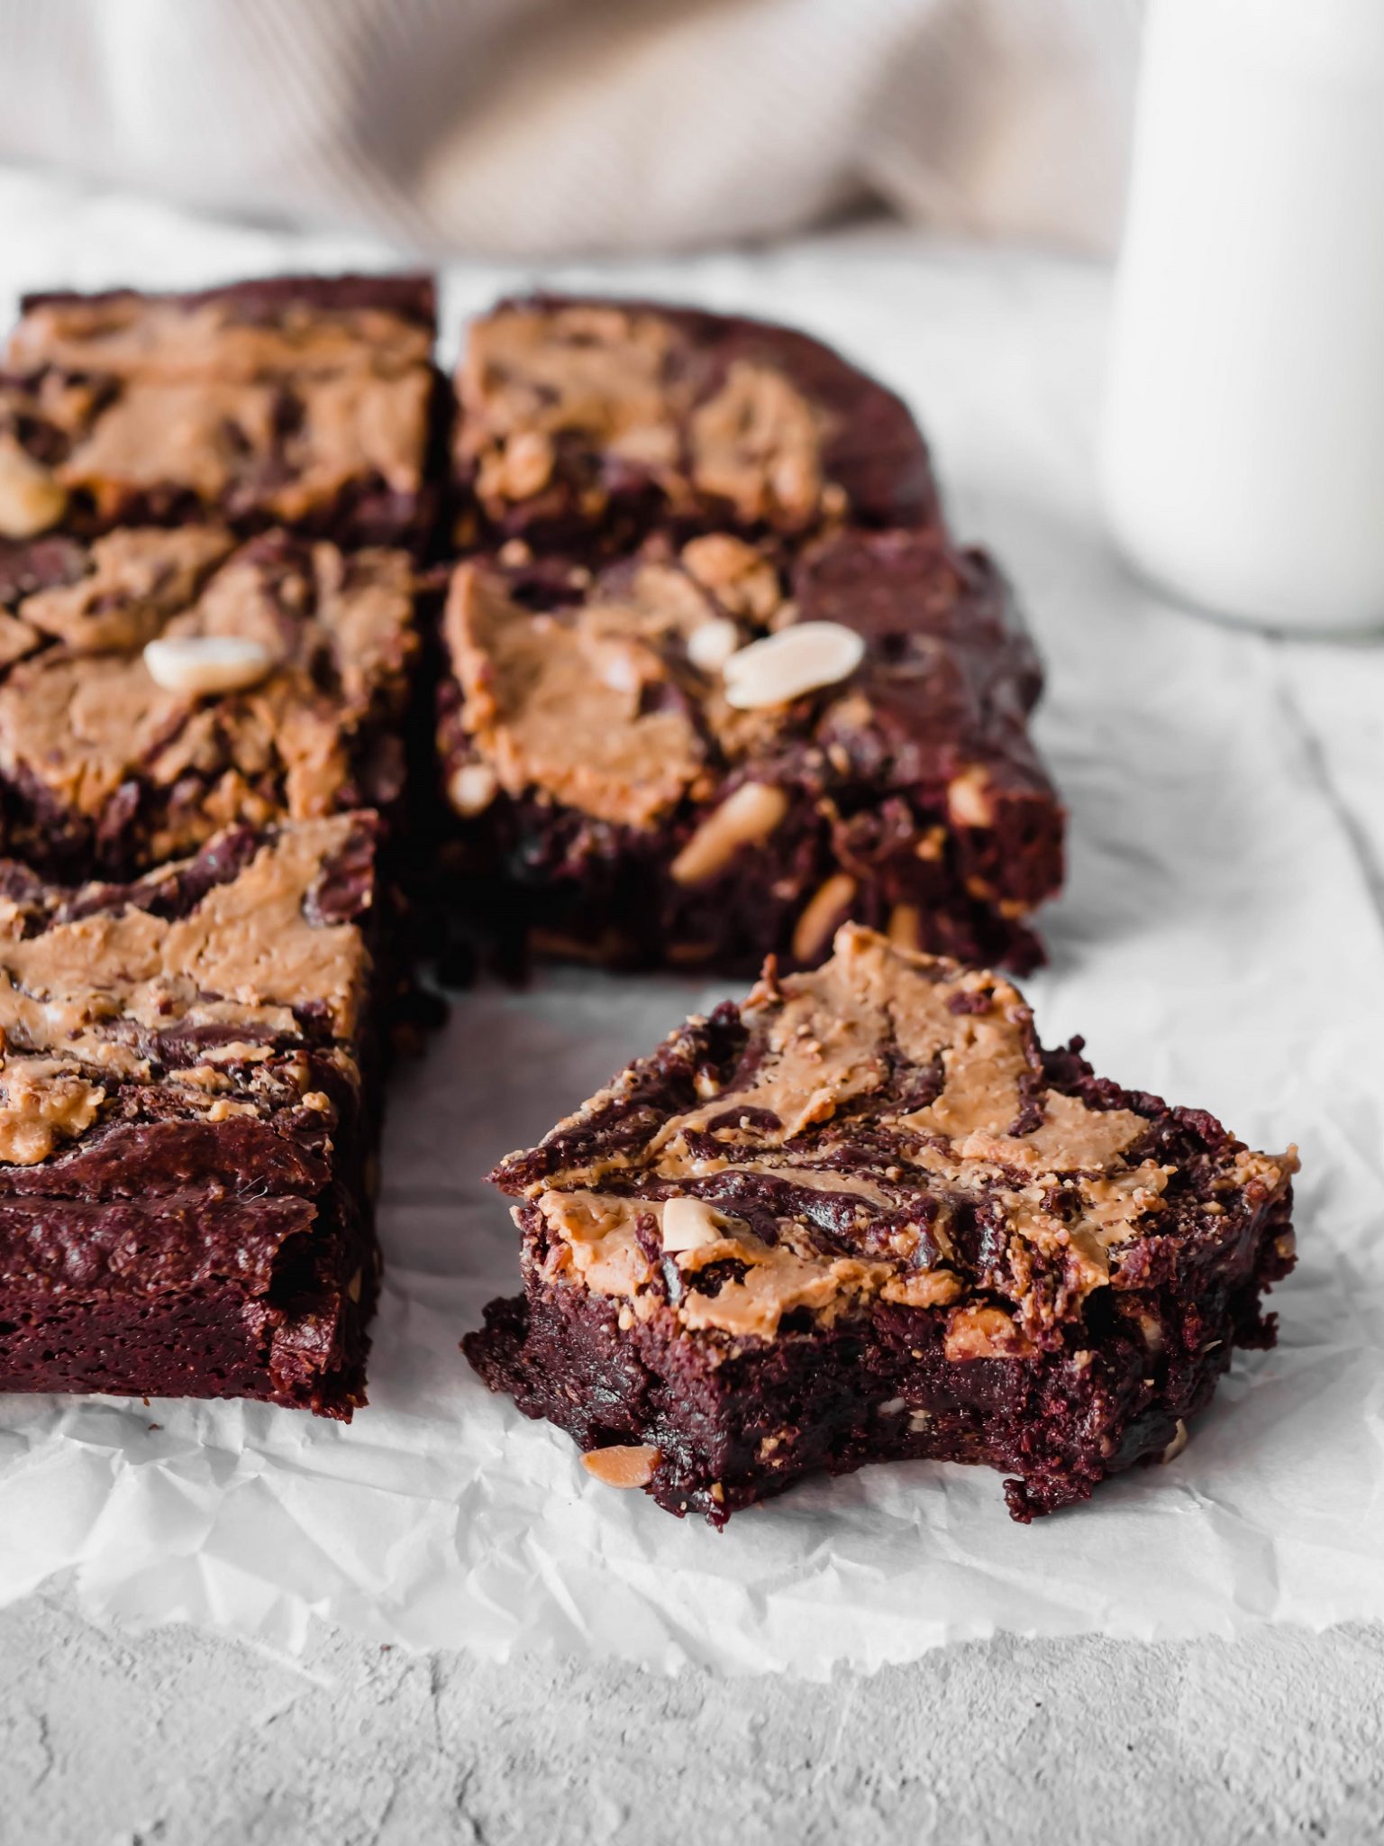
M0 851L131 877L218 827L389 809L413 567L216 526L0 546Z

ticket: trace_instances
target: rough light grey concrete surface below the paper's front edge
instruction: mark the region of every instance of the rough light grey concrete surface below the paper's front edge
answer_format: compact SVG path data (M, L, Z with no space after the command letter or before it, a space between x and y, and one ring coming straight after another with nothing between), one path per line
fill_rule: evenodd
M1384 1837L1384 1630L952 1647L834 1685L0 1613L4 1846Z

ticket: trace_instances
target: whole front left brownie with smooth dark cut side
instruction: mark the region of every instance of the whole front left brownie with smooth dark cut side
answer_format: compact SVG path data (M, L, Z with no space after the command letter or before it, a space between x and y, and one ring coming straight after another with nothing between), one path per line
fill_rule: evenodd
M373 836L0 862L0 1390L365 1401Z

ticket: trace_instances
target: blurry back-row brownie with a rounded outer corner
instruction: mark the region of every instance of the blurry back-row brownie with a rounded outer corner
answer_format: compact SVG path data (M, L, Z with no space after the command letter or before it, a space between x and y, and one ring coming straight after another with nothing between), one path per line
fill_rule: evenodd
M790 327L535 295L471 323L458 537L589 554L651 526L801 535L937 519L906 406Z

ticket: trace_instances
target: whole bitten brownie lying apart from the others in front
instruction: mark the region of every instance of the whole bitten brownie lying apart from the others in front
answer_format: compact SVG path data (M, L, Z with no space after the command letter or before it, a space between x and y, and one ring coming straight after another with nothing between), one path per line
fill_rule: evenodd
M1009 1471L1022 1521L1081 1501L1273 1342L1297 1159L1078 1052L998 977L847 927L502 1161L524 1296L465 1351L716 1525L904 1456Z

